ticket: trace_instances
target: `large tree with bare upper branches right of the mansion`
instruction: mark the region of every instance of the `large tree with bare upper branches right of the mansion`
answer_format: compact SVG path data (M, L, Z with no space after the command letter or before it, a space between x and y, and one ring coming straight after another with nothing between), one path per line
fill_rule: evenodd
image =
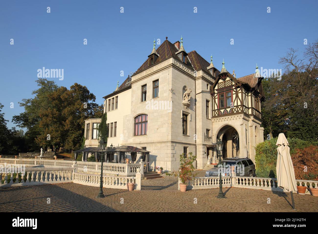
M318 138L318 40L309 44L299 58L298 50L289 49L280 58L285 73L281 80L264 80L266 101L262 103L264 135L284 132L288 137Z

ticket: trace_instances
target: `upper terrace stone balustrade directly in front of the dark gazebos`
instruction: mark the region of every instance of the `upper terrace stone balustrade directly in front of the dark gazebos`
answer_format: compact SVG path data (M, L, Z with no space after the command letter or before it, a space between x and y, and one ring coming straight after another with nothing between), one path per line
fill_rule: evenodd
M78 169L80 171L86 172L96 172L100 173L100 162L77 162ZM143 161L141 159L140 163L129 164L129 163L103 163L103 173L119 175L119 176L134 176L137 169L140 168L141 174L143 175Z

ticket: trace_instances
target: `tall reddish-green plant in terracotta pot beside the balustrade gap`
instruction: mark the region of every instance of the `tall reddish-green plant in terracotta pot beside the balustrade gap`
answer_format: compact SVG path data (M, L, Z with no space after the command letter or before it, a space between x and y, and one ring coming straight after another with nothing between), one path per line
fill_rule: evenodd
M187 190L187 185L190 180L194 177L192 172L194 171L193 162L197 159L197 156L193 156L192 152L188 154L181 154L180 155L180 168L179 171L174 171L172 173L166 173L167 175L174 175L177 176L181 184L180 191L185 192Z

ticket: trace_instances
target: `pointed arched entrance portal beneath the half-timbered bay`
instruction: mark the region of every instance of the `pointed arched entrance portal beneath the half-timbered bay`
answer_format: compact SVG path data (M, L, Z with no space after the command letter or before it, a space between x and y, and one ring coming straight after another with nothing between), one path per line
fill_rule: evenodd
M239 133L230 126L223 126L217 134L217 139L220 138L224 144L222 158L239 157Z

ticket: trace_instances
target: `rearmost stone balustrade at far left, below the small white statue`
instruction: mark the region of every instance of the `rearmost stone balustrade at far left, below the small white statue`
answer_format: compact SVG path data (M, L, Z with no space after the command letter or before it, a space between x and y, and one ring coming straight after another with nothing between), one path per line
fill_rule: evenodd
M0 158L0 164L24 165L26 167L73 167L74 163L71 160Z

